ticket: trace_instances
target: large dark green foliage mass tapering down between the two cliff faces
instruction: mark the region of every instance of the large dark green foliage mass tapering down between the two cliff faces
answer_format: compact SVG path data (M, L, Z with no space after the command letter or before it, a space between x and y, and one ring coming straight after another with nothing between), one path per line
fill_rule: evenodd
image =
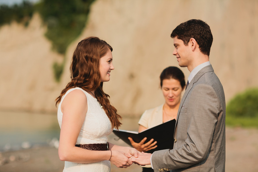
M94 0L43 0L36 5L48 30L46 37L54 50L64 54L67 46L85 27L90 5Z

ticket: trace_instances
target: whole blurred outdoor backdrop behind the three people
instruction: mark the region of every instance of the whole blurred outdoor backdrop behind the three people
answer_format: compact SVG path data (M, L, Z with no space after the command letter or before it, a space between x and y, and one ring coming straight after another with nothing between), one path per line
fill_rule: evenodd
M210 62L227 105L226 171L258 171L257 0L0 0L0 171L62 171L54 100L88 36L113 47L115 70L103 87L121 129L138 130L144 110L164 102L159 75L179 67L170 34L189 19L206 21L214 37Z

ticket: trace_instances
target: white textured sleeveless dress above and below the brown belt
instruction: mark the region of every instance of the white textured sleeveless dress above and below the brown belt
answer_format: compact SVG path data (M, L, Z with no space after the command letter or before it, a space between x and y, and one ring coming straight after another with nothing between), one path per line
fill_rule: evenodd
M105 111L99 106L97 99L79 87L69 89L65 95L62 96L57 111L60 128L62 127L63 116L61 112L62 101L68 93L75 89L80 89L85 93L88 104L86 117L76 144L106 143L107 135L113 130L111 122L105 114ZM63 172L110 172L110 161L100 161L96 163L73 163L65 161Z

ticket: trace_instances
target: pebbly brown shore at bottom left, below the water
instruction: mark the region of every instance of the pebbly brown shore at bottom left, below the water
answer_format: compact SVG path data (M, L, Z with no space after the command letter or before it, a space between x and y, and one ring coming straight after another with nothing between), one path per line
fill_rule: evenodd
M58 149L42 146L0 153L0 171L62 172L64 162L59 160Z

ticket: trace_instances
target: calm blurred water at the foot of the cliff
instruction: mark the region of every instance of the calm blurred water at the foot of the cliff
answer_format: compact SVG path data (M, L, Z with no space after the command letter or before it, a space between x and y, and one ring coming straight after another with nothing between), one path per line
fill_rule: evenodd
M138 118L123 118L120 129L138 130ZM28 112L0 112L0 151L19 150L37 146L58 146L60 128L56 114ZM124 145L122 140L114 140L112 133L108 140Z

